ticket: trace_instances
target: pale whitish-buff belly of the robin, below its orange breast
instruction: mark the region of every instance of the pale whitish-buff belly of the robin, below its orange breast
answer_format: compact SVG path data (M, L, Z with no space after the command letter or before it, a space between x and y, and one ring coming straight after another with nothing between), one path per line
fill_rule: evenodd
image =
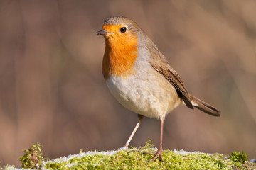
M164 118L183 101L176 89L153 67L128 77L110 76L107 86L125 108L149 118Z

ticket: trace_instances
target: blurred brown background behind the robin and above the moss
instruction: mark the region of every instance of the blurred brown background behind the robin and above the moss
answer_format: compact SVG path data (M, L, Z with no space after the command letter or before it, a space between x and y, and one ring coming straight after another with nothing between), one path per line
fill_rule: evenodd
M186 106L166 117L164 149L244 150L256 157L256 1L0 1L0 166L22 149L44 157L123 147L137 115L108 91L101 64L110 16L134 19L180 74L188 91L219 108ZM146 118L131 145L153 139Z

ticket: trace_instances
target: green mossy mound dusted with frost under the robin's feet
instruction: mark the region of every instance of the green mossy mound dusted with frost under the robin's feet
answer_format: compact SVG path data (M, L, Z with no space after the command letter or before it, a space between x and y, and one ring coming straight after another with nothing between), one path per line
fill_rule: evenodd
M174 149L164 150L164 162L145 152L155 152L157 149L150 143L144 147L106 152L85 152L54 160L43 161L39 169L256 169L251 162L234 161L223 154L205 154L201 152L186 152ZM15 169L6 166L6 169Z

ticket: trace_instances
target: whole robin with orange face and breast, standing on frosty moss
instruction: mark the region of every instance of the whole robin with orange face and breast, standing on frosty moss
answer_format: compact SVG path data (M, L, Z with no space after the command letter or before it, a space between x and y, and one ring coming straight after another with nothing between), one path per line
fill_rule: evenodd
M111 16L96 34L105 38L102 74L108 89L122 106L137 113L139 118L124 148L128 148L144 117L156 118L161 123L159 148L148 161L157 158L163 161L164 119L174 108L186 105L220 116L217 108L188 93L166 57L132 19Z

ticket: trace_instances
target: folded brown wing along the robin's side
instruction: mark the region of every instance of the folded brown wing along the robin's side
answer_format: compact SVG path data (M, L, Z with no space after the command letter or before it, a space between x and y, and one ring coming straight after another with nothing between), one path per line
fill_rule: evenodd
M151 66L154 67L157 72L162 74L175 87L178 96L182 98L186 106L188 106L188 108L193 108L186 87L184 86L177 72L171 68L164 55L162 55L156 47L152 47L149 51L151 52L152 56Z

